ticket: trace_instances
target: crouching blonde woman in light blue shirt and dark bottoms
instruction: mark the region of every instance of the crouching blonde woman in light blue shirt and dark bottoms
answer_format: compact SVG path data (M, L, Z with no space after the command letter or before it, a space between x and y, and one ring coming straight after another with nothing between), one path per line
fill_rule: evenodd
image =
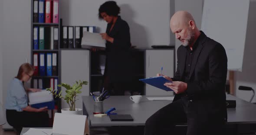
M5 103L7 122L17 130L18 134L23 127L48 127L49 116L47 107L33 108L28 105L27 91L37 92L39 89L25 90L24 82L30 80L34 68L29 63L20 66L18 74L11 80Z

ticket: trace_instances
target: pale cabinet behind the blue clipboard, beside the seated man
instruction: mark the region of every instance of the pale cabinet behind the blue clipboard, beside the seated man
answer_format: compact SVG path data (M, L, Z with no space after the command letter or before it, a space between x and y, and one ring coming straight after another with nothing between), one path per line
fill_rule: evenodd
M174 76L174 50L146 50L146 78L155 77L157 73L161 73L169 77ZM145 95L173 95L173 91L165 91L146 84Z

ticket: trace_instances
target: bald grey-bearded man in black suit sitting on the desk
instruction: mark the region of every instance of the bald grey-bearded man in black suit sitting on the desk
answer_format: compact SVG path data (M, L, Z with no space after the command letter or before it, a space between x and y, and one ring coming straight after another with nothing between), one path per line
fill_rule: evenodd
M187 135L221 135L226 120L226 51L199 31L186 11L176 12L170 27L182 45L177 49L175 76L163 76L173 81L164 85L176 95L148 118L144 135L175 135L174 126L186 122Z

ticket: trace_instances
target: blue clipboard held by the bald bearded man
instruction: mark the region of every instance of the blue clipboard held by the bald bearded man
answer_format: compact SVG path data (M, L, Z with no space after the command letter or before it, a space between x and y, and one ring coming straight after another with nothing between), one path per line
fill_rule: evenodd
M164 86L165 83L171 83L171 81L165 79L163 76L151 77L151 78L139 79L139 80L143 81L146 84L152 85L154 87L157 87L157 88L165 90L165 91L173 91L170 88Z

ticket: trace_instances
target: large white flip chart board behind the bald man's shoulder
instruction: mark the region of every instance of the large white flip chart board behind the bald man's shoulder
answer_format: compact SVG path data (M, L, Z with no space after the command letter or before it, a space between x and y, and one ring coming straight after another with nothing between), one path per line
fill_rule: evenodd
M226 50L228 70L242 71L249 0L204 0L201 30Z

